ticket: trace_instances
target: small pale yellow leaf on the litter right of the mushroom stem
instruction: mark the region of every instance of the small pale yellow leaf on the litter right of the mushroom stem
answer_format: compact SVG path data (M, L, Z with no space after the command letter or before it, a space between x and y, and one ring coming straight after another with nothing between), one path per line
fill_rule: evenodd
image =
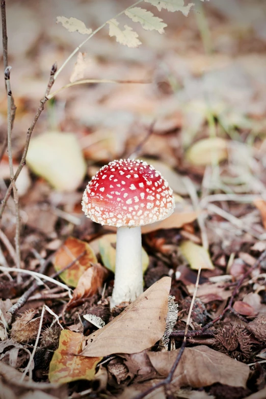
M191 269L199 270L200 267L208 270L215 269L208 251L200 245L192 241L184 241L179 248L182 255L188 260Z

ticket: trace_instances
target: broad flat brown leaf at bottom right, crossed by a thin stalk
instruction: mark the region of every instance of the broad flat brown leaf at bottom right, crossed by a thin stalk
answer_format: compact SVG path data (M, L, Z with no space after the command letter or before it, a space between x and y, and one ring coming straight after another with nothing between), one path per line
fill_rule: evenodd
M149 352L148 356L156 370L167 377L178 352L179 350ZM173 382L179 387L201 388L220 383L245 388L248 377L249 366L247 364L231 359L205 345L200 345L194 348L185 348L175 370Z

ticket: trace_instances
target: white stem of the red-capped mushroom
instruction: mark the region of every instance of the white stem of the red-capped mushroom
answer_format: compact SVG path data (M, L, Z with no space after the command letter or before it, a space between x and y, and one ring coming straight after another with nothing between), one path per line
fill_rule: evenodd
M115 286L111 308L132 302L143 292L141 227L119 227L116 240Z

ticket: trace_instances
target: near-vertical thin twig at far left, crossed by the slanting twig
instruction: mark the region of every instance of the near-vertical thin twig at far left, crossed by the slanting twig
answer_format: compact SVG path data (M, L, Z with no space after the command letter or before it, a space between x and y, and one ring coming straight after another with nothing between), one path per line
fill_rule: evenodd
M7 85L7 97L8 97L8 110L7 110L7 119L8 119L8 162L10 169L10 180L11 186L14 195L14 203L16 209L16 235L15 235L15 247L16 247L16 266L20 269L20 214L19 214L19 199L18 192L16 188L16 182L14 180L14 168L13 168L13 156L12 156L12 141L11 141L11 133L12 133L12 115L11 115L11 105L12 105L12 92L11 92L11 84L10 84L10 70L11 67L8 66L5 69L5 80ZM17 276L17 282L21 282L21 276Z

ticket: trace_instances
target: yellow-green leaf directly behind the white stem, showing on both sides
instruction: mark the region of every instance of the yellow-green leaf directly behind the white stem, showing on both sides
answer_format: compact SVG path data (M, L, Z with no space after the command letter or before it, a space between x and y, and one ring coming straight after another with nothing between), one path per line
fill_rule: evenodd
M116 269L116 234L105 234L99 241L99 252L105 268L115 273ZM147 252L142 248L142 270L143 273L149 265L149 257Z

